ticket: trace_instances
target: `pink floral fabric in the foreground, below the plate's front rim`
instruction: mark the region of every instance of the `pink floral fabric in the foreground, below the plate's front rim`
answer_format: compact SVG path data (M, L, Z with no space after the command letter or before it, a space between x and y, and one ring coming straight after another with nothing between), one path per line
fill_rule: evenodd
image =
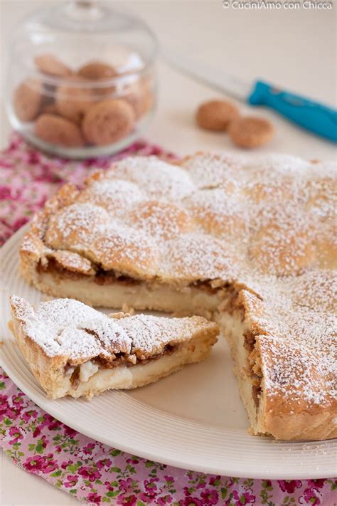
M0 368L0 446L28 473L92 505L324 505L337 480L250 480L172 468L93 441L55 420Z

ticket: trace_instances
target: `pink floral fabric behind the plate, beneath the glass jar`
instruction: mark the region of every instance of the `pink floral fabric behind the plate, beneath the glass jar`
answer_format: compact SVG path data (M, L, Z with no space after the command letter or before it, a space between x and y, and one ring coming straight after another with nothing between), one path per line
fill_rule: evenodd
M154 144L135 142L113 157L82 162L51 158L29 147L17 134L0 154L0 245L29 221L64 183L81 184L90 172L107 169L113 160L131 154L176 158Z

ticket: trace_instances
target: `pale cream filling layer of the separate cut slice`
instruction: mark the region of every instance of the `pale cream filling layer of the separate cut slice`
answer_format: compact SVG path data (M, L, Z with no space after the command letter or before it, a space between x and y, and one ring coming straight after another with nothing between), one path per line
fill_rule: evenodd
M77 388L73 388L70 380L74 370L71 368L68 374L59 376L58 385L53 390L53 399L66 395L90 398L107 389L134 389L137 386L144 386L168 376L185 364L200 362L210 351L211 342L213 343L213 339L211 341L208 338L200 340L200 337L191 339L180 344L176 352L172 354L164 354L159 359L132 367L103 369L97 367L92 361L85 362L80 366L80 384Z

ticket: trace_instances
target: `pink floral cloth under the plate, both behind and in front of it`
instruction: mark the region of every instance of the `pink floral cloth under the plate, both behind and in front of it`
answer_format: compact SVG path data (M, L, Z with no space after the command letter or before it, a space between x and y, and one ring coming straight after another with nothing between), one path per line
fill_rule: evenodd
M129 154L173 157L146 142ZM112 158L70 162L48 158L13 135L0 154L0 244L31 218L65 181L80 184ZM92 505L337 504L337 480L252 480L172 468L93 441L55 420L0 368L0 446L28 473Z

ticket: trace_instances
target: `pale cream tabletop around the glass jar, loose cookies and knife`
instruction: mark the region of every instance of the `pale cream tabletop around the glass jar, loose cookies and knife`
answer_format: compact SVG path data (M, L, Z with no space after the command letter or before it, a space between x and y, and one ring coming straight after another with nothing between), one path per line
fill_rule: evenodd
M6 80L9 36L16 23L43 1L0 0L1 89ZM223 9L221 0L127 1L173 51L225 68L250 80L264 78L289 90L336 105L336 6L332 11ZM196 150L238 152L226 135L196 128L193 112L203 100L221 97L159 62L159 107L146 137L178 154ZM1 94L2 95L2 94ZM0 142L10 132L0 106ZM307 158L336 157L336 148L272 112L240 105L243 113L262 115L276 127L273 141L254 154L283 152ZM17 468L0 453L0 505L72 505L73 497Z

